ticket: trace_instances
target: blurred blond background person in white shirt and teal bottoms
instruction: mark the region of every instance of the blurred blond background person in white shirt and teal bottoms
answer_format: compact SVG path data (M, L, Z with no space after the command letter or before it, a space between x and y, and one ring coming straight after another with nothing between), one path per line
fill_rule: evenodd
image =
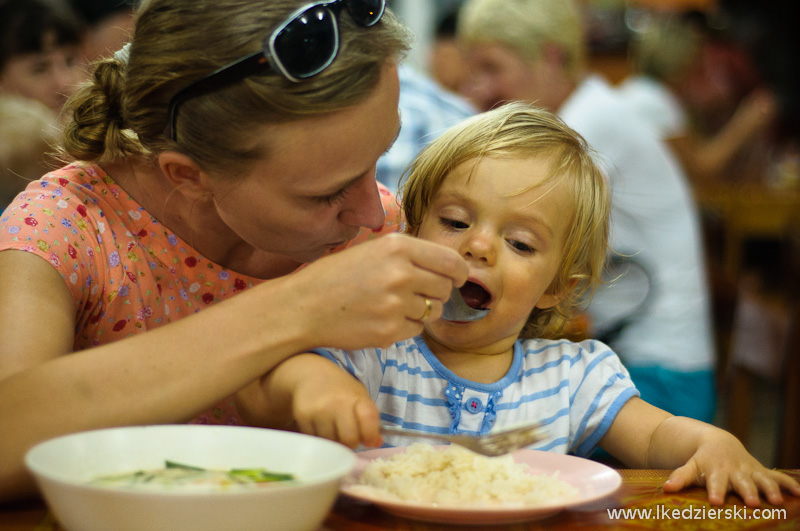
M653 128L586 70L582 26L574 2L467 0L458 35L473 75L472 98L482 110L533 102L557 113L598 152L612 188L611 248L646 282L613 273L616 280L599 290L589 314L598 323L627 313L606 339L645 401L711 421L710 290L691 190ZM640 290L646 306L626 308Z

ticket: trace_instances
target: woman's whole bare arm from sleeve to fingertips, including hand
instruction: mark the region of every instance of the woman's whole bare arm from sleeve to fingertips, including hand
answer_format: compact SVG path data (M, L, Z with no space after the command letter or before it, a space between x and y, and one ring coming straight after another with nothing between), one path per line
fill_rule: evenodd
M87 429L182 422L287 357L420 332L466 279L458 253L389 235L161 328L72 353L75 308L50 264L0 252L0 501L34 492L34 444Z

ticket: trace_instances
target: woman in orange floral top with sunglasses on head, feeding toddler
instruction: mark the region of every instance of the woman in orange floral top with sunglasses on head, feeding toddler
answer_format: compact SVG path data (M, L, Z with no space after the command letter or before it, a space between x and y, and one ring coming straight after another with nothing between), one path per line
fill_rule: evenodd
M397 226L375 163L407 33L383 1L302 5L147 1L71 102L82 162L0 219L0 499L38 441L242 422L276 363L415 335L466 279L424 241L349 248Z

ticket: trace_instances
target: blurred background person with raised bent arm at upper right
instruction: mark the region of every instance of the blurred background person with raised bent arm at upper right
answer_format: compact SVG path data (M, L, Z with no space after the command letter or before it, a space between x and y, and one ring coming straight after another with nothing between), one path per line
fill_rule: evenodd
M742 154L752 150L759 136L773 125L778 107L772 92L762 86L731 105L734 112L726 122L713 124L713 133L699 126L701 116L692 112L687 100L697 99L692 93L700 93L699 87L720 83L697 81L707 66L703 64L703 48L710 46L706 43L708 30L697 25L674 14L648 17L631 43L633 75L619 90L634 110L657 128L692 181L706 184L729 179L733 165L741 163ZM725 86L722 83L719 90ZM714 95L719 96L716 92ZM726 99L718 97L715 105Z

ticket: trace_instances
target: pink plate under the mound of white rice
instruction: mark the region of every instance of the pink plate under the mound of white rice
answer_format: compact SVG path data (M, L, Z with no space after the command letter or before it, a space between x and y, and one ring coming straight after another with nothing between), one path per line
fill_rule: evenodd
M413 520L443 524L493 525L545 518L564 509L599 500L616 491L622 484L622 478L616 470L589 459L539 450L517 450L511 454L514 461L530 466L531 474L552 475L558 472L559 479L578 489L578 495L570 500L547 505L487 508L400 501L353 488L356 479L371 460L403 451L405 448L380 448L359 452L356 454L358 457L356 466L350 478L342 485L341 492L352 498L374 503L386 512Z

